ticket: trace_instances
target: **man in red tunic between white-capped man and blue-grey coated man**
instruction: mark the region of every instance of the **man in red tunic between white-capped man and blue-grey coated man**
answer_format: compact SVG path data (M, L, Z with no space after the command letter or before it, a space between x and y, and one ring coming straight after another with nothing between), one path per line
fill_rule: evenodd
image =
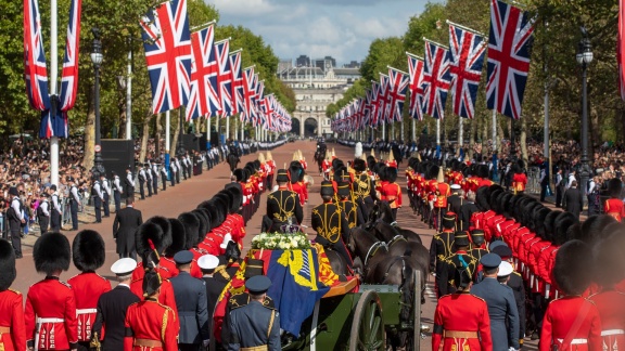
M145 273L145 300L130 304L126 312L124 351L178 350L178 321L170 308L158 302L161 284L158 273Z

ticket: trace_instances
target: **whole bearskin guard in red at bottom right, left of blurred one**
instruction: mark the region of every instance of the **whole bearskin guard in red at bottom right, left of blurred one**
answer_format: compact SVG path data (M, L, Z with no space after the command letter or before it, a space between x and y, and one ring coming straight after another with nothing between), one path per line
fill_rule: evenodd
M564 297L547 307L538 350L602 350L599 310L581 296L590 284L590 257L589 247L581 240L570 240L558 249L552 274Z

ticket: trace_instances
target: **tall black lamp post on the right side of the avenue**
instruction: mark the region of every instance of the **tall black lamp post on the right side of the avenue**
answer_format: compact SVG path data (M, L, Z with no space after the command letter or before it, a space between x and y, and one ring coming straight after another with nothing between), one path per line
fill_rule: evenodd
M582 40L577 44L575 58L582 66L582 167L579 169L579 181L582 184L582 198L586 202L586 186L590 177L590 166L588 165L588 93L586 89L586 69L592 62L592 47L588 39L588 31L581 27Z

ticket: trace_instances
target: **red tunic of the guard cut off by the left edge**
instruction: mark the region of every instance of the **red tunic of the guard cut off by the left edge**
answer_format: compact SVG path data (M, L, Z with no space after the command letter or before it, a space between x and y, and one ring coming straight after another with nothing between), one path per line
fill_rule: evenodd
M0 333L0 342L4 344L4 351L26 350L23 303L20 291L11 289L0 291L0 327L11 329L9 333Z

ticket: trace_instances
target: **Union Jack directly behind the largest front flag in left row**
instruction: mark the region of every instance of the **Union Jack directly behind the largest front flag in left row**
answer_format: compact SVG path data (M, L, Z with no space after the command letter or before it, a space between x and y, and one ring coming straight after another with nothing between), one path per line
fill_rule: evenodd
M213 50L214 25L191 34L193 61L191 64L191 95L187 104L187 121L200 116L209 117L220 108L217 84L217 61Z

